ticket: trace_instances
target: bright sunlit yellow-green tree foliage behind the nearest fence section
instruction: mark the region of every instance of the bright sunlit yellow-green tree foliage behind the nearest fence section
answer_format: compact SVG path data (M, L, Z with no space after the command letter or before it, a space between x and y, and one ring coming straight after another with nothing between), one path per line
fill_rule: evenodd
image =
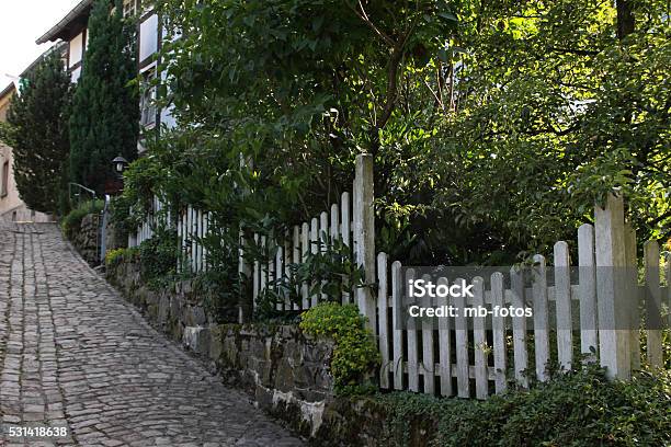
M619 38L617 8L636 18ZM667 4L464 2L457 12L456 107L418 172L436 183L428 215L462 239L451 257L545 251L573 239L613 191L639 234L671 236Z

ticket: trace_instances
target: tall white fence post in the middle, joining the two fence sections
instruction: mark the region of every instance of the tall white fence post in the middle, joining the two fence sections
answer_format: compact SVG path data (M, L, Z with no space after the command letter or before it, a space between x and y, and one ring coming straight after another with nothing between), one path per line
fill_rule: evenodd
M365 284L375 282L375 209L373 206L373 156L356 156L354 177L354 251L357 265L364 268ZM369 287L356 289L360 312L368 319L368 328L375 332L375 302Z

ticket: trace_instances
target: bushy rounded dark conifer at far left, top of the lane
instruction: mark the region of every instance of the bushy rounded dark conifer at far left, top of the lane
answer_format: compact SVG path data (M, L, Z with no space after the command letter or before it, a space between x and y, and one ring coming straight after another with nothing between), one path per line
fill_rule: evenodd
M19 195L36 211L58 214L67 190L70 77L59 51L29 73L14 95L0 137L13 148Z

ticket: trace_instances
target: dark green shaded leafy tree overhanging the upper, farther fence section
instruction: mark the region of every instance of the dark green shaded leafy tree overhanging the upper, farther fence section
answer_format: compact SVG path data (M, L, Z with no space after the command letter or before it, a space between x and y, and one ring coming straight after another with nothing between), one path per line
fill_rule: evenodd
M422 55L455 23L435 0L376 1L366 10L340 0L164 0L158 8L169 35L181 36L162 48L162 101L175 105L182 125L167 139L211 162L219 181L209 185L213 196L230 190L219 175L234 177L247 208L287 224L351 190L354 157L383 150L378 135L399 105L398 73L427 64Z

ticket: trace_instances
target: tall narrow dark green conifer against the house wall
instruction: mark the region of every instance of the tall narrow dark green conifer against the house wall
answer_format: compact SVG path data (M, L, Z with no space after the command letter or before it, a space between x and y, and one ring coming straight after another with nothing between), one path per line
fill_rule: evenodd
M72 181L102 191L114 175L112 159L137 156L136 37L122 16L121 0L113 10L107 0L94 2L89 33L70 117L70 173Z

